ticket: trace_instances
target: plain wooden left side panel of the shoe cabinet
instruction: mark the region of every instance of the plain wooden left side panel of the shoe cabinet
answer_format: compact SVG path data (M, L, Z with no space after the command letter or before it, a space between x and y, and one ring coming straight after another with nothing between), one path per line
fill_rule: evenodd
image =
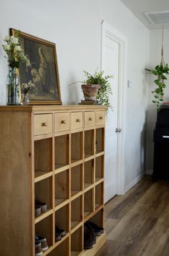
M0 112L0 255L32 256L31 113Z

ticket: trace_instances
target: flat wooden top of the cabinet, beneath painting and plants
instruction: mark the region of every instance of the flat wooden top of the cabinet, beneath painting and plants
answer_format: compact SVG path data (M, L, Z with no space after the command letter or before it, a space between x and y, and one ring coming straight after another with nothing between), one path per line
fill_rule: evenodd
M29 106L0 106L0 111L90 111L106 110L106 106L100 105L29 105Z

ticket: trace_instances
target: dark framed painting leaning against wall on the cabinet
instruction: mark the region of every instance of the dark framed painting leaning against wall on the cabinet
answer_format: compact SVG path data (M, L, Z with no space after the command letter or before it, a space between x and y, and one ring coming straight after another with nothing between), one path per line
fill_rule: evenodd
M16 29L10 29L10 35L16 32ZM20 64L20 84L32 81L35 85L29 91L30 104L62 104L56 45L20 31L19 42L31 63L29 67Z

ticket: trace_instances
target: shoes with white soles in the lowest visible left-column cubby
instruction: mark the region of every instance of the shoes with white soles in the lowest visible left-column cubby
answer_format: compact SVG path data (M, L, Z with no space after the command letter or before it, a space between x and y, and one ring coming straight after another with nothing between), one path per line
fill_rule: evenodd
M42 252L47 251L47 238L35 234L35 256L42 255Z

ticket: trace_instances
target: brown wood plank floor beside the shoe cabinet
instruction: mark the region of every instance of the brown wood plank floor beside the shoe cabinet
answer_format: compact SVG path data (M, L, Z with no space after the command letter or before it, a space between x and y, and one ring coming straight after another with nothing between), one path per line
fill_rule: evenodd
M97 256L169 255L169 180L150 176L105 207L106 244Z

